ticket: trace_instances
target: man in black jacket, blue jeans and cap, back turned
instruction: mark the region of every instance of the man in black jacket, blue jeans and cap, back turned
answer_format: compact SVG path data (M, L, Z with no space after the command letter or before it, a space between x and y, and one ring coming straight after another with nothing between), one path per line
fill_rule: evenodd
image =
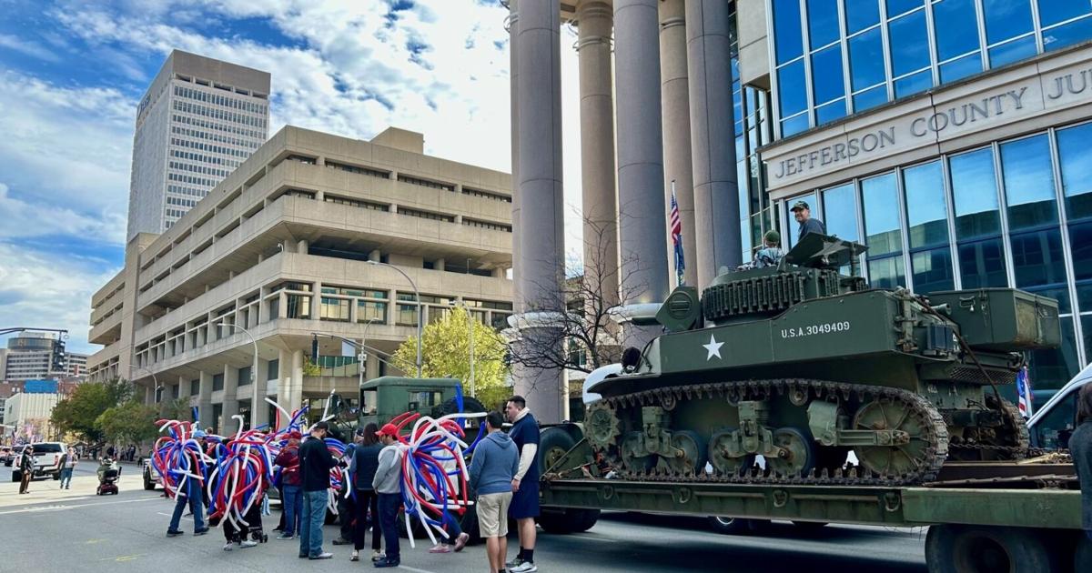
M311 434L299 446L299 470L304 485L304 518L299 524L299 557L330 559L333 553L322 550L322 523L327 517L330 469L337 461L327 450L329 426L320 421L311 426Z

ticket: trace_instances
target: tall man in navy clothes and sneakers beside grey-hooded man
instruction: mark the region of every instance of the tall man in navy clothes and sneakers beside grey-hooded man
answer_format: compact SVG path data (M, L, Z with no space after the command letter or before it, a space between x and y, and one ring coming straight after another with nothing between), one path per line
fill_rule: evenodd
M508 514L517 524L520 552L515 560L506 563L512 573L533 573L535 565L535 517L538 516L538 421L527 409L523 396L512 396L505 405L505 414L512 422L508 435L520 451L520 467L512 480L512 503Z

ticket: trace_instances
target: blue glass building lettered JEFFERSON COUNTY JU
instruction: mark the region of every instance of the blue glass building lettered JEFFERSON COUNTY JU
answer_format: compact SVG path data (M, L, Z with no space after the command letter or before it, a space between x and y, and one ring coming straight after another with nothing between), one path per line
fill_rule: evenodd
M743 82L769 87L772 213L751 205L752 223L791 247L804 200L868 246L875 286L1056 298L1064 345L1031 354L1032 379L1089 363L1092 1L767 0L764 16L769 75Z

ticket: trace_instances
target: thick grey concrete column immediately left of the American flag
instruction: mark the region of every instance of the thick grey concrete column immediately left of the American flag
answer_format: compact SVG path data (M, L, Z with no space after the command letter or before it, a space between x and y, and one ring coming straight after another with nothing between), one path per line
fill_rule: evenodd
M660 95L656 0L615 1L618 98L618 222L622 303L667 297L667 208ZM625 343L642 347L652 327L626 327Z

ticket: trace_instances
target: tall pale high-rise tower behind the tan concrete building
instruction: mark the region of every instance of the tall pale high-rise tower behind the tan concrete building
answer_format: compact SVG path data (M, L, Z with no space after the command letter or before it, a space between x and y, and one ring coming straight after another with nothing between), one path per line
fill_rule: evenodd
M174 50L136 108L127 239L169 229L269 134L270 74Z

